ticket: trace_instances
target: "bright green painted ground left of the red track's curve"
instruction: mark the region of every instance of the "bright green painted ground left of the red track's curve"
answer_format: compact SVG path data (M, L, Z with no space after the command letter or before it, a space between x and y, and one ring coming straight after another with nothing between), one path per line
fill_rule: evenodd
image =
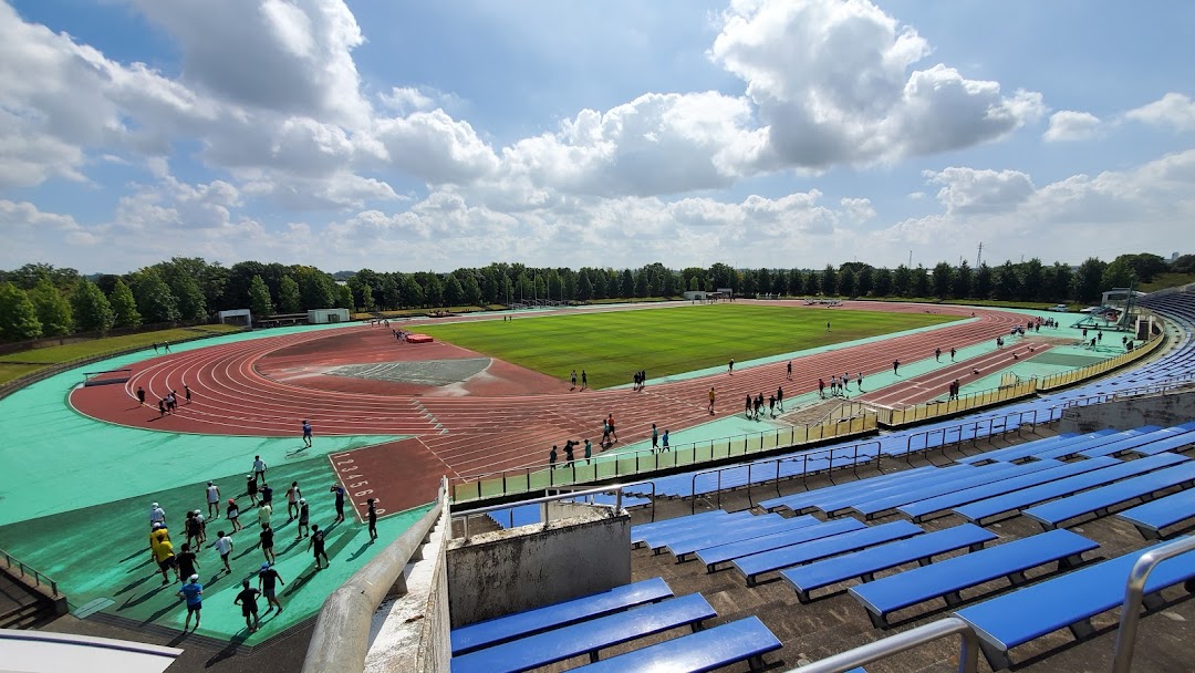
M213 337L178 344L172 350L280 336L294 331L343 329L307 326ZM330 530L326 551L331 568L315 571L307 540L294 543L295 524L287 522L286 489L298 481L311 507L311 521L321 527L335 516L330 492L336 477L326 454L400 439L397 436L317 438L310 449L294 438L219 436L159 433L96 421L74 411L67 396L82 372L115 369L153 356L153 350L93 362L22 388L0 400L5 442L0 447L0 549L59 582L72 608L112 601L103 612L141 624L182 629L184 604L178 583L161 585L149 559L149 507L166 510L176 553L186 542L182 521L188 509L207 514L204 491L213 481L223 504L237 497L245 530L233 533L232 574L210 549L216 532L232 526L225 519L208 524L208 544L198 552L203 583L201 635L256 644L313 616L333 589L393 540L427 508L386 516L378 522L380 539L369 544L367 528L349 519ZM118 393L114 387L114 393ZM271 613L262 630L249 635L240 608L232 604L240 580L251 579L263 556L258 547L257 510L245 494L245 476L255 455L269 465L275 488L275 553L286 581L278 598L284 612ZM223 506L222 506L223 507ZM173 576L171 576L173 581ZM266 608L259 600L259 613ZM192 622L194 624L194 622Z

